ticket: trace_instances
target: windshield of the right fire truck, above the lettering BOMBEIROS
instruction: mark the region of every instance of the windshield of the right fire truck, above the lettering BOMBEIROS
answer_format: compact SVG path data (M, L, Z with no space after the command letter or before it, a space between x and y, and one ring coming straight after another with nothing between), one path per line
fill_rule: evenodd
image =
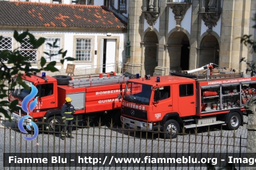
M149 104L152 93L151 85L140 83L127 83L124 92L124 100L138 104Z

